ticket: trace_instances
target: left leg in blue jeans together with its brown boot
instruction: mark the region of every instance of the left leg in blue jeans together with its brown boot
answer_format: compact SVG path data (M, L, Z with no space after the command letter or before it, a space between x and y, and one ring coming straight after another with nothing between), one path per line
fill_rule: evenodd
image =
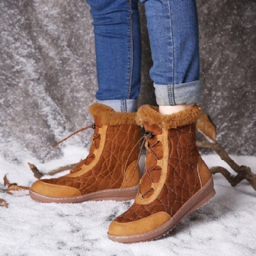
M31 198L40 202L127 201L138 191L141 127L135 122L135 111L141 46L137 0L87 2L95 26L99 90L98 103L89 107L94 124L78 132L92 128L92 144L87 158L70 174L33 183Z

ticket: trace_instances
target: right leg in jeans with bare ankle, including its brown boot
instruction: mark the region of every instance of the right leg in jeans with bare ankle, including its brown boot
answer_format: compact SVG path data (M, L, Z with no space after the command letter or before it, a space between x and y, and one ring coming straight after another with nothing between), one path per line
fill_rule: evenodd
M154 240L215 195L196 147L201 116L196 0L146 0L159 107L137 112L144 126L146 163L134 204L110 224L118 242Z

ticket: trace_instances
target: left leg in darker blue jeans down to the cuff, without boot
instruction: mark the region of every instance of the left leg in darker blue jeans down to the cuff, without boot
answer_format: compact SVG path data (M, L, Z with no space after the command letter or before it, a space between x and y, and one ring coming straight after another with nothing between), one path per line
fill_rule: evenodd
M93 18L97 102L117 112L137 110L141 38L137 0L87 0Z

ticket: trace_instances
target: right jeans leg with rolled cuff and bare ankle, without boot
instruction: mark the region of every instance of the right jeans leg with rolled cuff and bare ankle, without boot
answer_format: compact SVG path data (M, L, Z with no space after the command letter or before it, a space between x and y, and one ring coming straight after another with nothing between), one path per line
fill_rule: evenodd
M154 62L150 75L159 111L171 114L199 103L196 0L147 0L145 9Z

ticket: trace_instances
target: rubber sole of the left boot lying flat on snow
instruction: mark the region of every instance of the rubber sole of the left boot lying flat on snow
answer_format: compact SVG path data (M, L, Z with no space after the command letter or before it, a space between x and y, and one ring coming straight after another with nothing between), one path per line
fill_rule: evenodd
M101 201L101 200L113 200L113 201L128 201L135 198L139 189L139 185L129 188L113 188L105 189L102 191L96 191L88 193L82 196L69 196L63 198L57 198L52 196L45 196L40 193L36 193L32 189L29 190L29 195L34 201L40 203L82 203L85 201Z

